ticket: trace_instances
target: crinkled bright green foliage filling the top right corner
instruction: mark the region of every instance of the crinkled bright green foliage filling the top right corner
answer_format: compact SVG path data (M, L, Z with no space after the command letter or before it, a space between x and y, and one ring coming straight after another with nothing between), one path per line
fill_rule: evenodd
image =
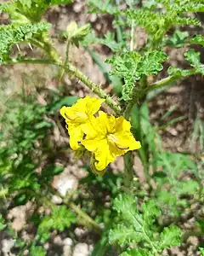
M200 3L199 3L200 2ZM158 5L160 4L160 5ZM127 17L135 24L144 27L150 35L150 40L156 47L161 43L164 34L173 26L201 26L195 18L184 17L186 12L202 12L204 4L201 1L146 1L143 9L128 9Z

